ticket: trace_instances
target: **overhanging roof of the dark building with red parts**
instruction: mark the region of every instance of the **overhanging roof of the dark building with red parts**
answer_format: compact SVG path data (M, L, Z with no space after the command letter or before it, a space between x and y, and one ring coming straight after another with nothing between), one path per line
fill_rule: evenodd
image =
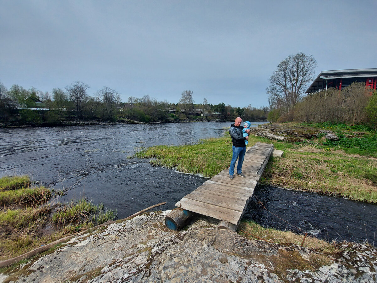
M322 71L318 77L314 80L306 93L322 89L324 81L333 78L370 78L377 77L377 68L374 69L349 69L349 70L334 70L334 71ZM319 88L320 86L320 88Z

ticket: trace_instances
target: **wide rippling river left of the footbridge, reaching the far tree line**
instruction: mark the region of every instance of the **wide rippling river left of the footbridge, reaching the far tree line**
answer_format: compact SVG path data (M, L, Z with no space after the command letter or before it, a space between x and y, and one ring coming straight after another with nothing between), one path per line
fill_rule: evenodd
M0 129L0 176L30 175L67 189L61 201L102 201L124 218L167 201L172 209L206 178L130 158L140 147L186 145L219 137L230 122ZM254 126L263 122L253 122Z

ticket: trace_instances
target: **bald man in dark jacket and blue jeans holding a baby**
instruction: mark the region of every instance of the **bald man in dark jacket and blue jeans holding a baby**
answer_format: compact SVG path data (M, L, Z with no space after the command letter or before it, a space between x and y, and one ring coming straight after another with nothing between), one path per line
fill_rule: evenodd
M234 174L234 166L236 165L236 161L238 158L238 165L237 165L237 175L241 177L246 177L242 174L242 163L244 162L245 152L246 152L246 145L245 140L249 139L249 136L244 137L242 133L243 127L241 126L242 119L237 117L234 121L234 124L230 126L229 134L232 138L233 143L233 157L232 161L230 162L229 168L229 178L233 180ZM250 130L245 130L247 134L250 134Z

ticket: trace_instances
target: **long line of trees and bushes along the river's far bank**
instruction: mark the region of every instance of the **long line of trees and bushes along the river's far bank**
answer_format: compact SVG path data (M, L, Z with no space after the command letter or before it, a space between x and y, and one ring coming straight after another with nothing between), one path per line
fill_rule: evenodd
M89 85L76 81L65 88L54 88L52 92L36 88L25 89L12 85L7 89L0 82L0 122L56 124L72 120L101 121L174 121L174 120L265 120L268 107L233 107L219 103L195 103L193 92L181 93L178 103L157 101L150 95L141 98L130 96L122 102L120 93L104 87L92 96L88 95Z

